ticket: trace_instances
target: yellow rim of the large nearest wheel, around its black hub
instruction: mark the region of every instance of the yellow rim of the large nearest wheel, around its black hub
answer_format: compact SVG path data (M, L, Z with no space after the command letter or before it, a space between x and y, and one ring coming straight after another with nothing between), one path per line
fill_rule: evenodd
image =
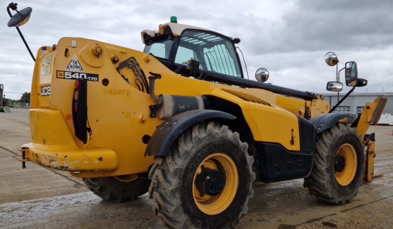
M200 193L197 189L197 175L202 169L208 168L219 171L225 178L225 184L221 192L216 196ZM228 208L237 192L239 182L236 165L233 160L224 153L214 153L205 158L199 164L194 174L193 196L199 210L207 215L216 215Z

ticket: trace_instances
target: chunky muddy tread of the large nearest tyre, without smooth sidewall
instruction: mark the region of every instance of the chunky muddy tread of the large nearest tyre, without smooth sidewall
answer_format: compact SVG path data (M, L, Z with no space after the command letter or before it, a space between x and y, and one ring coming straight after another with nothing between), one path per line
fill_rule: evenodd
M232 132L226 125L220 125L217 122L198 123L179 136L166 157L156 157L155 160L162 161L162 163L155 163L149 172L149 178L152 180L149 187L149 197L154 200L153 212L167 226L175 229L195 228L195 225L187 219L182 210L183 206L179 194L181 172L191 156L193 144L200 144L206 141L206 139L217 136L228 138L237 143L246 154L251 182L248 187L246 203L241 210L239 218L247 213L247 202L254 195L252 181L255 180L255 173L252 171L254 158L247 153L248 144L242 143L239 134ZM237 225L237 223L238 219L235 220L234 224ZM231 225L230 228L233 228L235 225Z

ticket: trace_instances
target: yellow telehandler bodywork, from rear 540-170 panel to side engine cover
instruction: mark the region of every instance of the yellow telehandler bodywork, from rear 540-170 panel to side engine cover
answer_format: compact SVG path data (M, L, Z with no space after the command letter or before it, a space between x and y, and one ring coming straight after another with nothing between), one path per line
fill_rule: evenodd
M120 74L116 70L119 63L130 57L138 61L146 77L149 72L162 75L156 80L156 94L212 95L228 100L241 108L254 140L300 150L295 114L304 116L302 99L183 77L146 53L95 40L64 37L55 50L44 47L37 53L30 111L33 142L23 145L29 148L25 150L28 160L80 177L148 171L154 159L144 156L147 144L142 138L152 136L164 120L150 117L149 106L155 101L146 89L139 89L140 81L132 69L125 67ZM72 120L75 79L66 72L97 76L87 82L87 117L92 133L86 144L75 137ZM45 94L49 88L49 94ZM328 103L321 97L307 102L307 107L311 116L328 111ZM303 109L302 113L299 109Z

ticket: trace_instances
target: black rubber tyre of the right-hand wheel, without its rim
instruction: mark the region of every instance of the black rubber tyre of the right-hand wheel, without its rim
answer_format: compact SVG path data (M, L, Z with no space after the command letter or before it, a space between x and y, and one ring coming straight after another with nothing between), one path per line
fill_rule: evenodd
M339 147L350 143L356 151L357 169L354 179L346 186L340 185L334 175L335 155ZM364 145L355 128L339 122L317 136L311 174L304 179L308 193L328 204L345 204L359 192L364 170Z

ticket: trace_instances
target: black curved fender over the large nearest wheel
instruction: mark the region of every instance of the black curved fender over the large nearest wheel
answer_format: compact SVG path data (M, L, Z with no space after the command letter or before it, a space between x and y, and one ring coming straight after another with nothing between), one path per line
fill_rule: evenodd
M176 114L157 127L149 140L145 156L165 156L170 146L172 146L181 133L195 123L211 118L233 120L236 117L232 114L214 110L192 110Z

